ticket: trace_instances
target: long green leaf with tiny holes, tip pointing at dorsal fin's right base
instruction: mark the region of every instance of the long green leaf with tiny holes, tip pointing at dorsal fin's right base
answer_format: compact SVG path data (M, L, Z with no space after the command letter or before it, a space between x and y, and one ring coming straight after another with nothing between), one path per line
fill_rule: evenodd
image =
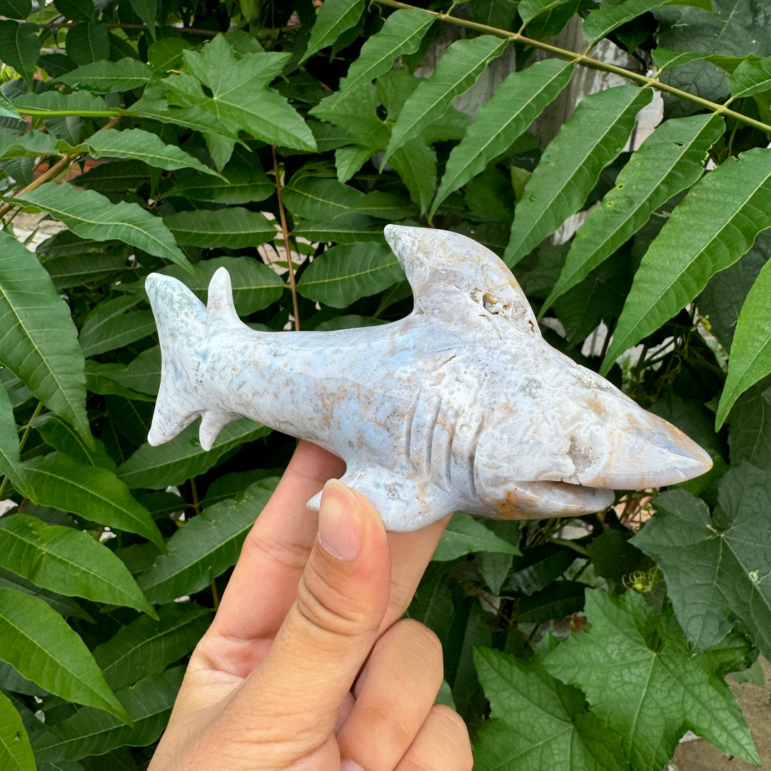
M709 148L723 130L719 116L696 115L668 120L648 136L600 206L578 228L541 314L610 257L658 207L699 180Z

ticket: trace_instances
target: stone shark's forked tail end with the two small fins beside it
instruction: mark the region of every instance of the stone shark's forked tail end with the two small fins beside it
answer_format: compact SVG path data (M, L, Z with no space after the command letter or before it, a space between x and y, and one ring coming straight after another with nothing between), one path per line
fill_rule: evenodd
M200 443L210 449L223 426L238 416L207 403L205 392L196 389L196 348L204 345L210 327L231 326L238 316L231 297L231 279L220 268L211 280L209 308L181 281L157 273L145 283L160 339L160 389L147 434L151 445L173 439L198 416Z

